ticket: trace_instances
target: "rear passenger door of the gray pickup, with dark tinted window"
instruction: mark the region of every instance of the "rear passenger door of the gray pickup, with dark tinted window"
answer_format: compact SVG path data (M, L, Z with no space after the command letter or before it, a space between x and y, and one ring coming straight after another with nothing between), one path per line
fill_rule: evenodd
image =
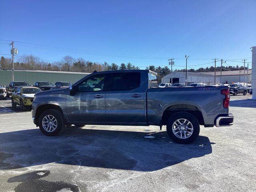
M115 72L110 75L110 90L106 91L105 99L107 122L145 123L145 94L141 73Z

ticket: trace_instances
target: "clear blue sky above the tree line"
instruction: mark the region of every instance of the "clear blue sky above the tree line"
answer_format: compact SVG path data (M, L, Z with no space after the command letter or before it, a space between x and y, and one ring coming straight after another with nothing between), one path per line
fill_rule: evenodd
M1 0L0 5L0 39L14 40L20 56L44 60L70 55L144 69L168 66L167 59L175 58L174 69L181 69L189 55L188 68L196 69L212 66L205 63L213 58L251 62L250 47L256 46L255 0ZM0 54L10 54L1 40Z

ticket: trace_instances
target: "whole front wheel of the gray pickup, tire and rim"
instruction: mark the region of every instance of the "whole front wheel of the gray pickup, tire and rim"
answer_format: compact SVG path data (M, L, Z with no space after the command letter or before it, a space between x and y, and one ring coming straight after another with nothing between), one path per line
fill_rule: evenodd
M64 126L64 118L58 110L50 109L40 115L38 124L43 134L56 136Z

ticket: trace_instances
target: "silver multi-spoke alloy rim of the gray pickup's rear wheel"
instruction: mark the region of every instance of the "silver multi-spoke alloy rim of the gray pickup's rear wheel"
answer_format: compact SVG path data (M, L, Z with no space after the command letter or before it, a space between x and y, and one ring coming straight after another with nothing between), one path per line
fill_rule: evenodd
M180 139L189 138L193 133L193 125L189 120L178 119L172 124L172 132Z

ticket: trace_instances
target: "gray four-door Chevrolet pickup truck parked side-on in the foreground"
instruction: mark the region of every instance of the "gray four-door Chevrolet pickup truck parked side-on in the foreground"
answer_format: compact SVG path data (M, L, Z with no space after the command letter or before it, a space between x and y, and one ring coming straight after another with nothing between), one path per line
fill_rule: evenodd
M154 87L149 70L94 72L70 88L39 92L32 118L43 134L55 136L74 125L156 125L178 143L193 142L205 127L230 126L228 86Z

